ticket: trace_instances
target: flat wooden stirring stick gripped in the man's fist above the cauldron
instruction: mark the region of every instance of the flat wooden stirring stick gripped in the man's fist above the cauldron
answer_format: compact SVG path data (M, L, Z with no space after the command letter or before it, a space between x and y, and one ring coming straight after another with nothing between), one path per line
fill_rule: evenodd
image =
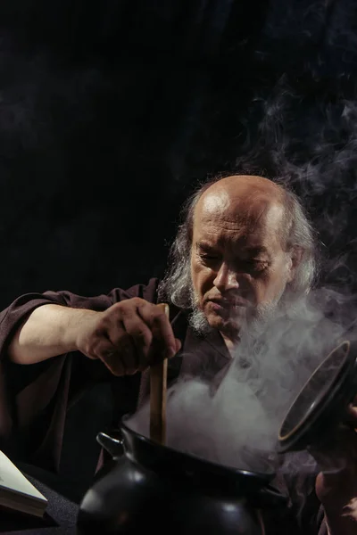
M169 317L169 305L160 303L157 306ZM162 445L166 441L167 362L165 358L150 366L150 439Z

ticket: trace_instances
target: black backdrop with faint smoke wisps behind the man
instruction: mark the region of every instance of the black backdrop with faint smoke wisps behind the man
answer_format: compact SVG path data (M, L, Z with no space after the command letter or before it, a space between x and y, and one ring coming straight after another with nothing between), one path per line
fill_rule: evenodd
M355 289L357 4L0 5L0 307L161 276L218 172L286 177ZM328 276L328 279L326 279Z

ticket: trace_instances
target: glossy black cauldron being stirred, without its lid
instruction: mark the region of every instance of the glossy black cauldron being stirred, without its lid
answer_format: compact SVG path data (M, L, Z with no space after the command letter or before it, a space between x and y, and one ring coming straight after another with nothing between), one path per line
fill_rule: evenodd
M100 433L113 457L87 491L78 533L263 535L260 509L285 502L270 487L274 473L214 465L133 432L122 421L120 440Z

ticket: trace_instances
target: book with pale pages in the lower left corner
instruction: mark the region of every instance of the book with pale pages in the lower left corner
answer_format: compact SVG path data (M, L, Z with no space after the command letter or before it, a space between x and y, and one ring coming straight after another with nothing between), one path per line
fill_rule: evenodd
M47 506L45 496L38 492L2 451L0 451L0 506L35 516L42 516Z

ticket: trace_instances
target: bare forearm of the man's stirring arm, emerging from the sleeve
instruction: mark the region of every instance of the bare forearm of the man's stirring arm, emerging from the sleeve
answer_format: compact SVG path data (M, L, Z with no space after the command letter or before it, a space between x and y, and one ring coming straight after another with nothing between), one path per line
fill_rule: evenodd
M78 325L97 314L87 309L42 305L14 333L8 355L17 364L34 364L77 350Z

